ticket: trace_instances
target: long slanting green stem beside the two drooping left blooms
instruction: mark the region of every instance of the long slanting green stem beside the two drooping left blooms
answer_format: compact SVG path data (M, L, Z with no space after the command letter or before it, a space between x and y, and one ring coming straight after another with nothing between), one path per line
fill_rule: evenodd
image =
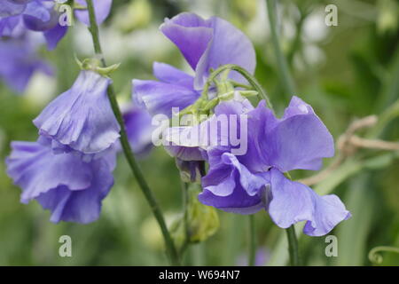
M104 59L103 52L101 50L101 44L99 42L99 37L98 37L98 25L96 21L96 15L94 13L94 8L93 8L93 3L92 0L87 0L87 7L89 11L89 16L90 16L90 33L91 37L93 39L93 45L94 45L94 51L98 56L100 57L101 63L103 67L106 67L106 59ZM137 178L137 183L140 186L142 192L145 194L145 198L148 201L150 208L153 211L153 215L158 221L158 224L160 225L160 231L163 235L163 238L165 240L165 245L167 248L168 256L170 258L170 263L172 265L178 265L179 264L179 258L177 255L176 247L175 244L170 237L170 233L168 232L168 227L165 222L165 218L163 217L162 211L160 209L160 206L158 205L158 202L155 199L155 196L153 195L152 190L150 189L149 185L147 184L145 177L143 173L141 172L136 158L131 150L130 144L129 144L129 139L126 134L124 122L123 122L123 117L121 114L121 109L118 105L118 102L115 97L115 93L113 91L113 86L110 85L108 88L108 98L111 103L111 107L113 109L113 114L116 117L116 120L119 122L121 126L121 146L123 149L123 153L126 156L126 159L128 160L129 167L133 172L133 175Z

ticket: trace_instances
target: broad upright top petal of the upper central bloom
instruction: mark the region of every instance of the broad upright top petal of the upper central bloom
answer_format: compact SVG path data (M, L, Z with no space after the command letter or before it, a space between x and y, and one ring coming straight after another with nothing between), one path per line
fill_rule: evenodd
M254 47L249 39L226 20L183 12L166 19L160 30L182 52L196 71L194 87L200 90L211 68L224 64L237 64L254 73L256 64ZM231 78L243 81L241 75L231 72Z

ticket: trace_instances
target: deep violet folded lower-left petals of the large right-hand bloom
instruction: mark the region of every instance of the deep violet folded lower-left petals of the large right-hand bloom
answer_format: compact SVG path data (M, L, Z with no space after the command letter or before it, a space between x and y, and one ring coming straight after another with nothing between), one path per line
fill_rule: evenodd
M207 154L212 156L212 152ZM264 209L265 176L251 173L230 153L215 155L211 159L214 162L219 159L219 162L211 164L207 176L202 177L204 190L199 195L200 202L239 214L253 214Z

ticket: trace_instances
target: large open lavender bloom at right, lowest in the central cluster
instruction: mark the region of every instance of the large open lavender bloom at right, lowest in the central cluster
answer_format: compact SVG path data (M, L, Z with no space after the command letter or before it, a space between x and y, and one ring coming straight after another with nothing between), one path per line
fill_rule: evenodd
M239 114L242 106L225 102L215 114ZM207 150L209 170L202 178L202 203L224 211L253 214L268 210L271 219L287 228L307 221L304 233L329 233L350 213L335 195L319 196L307 185L286 178L288 170L317 170L334 153L333 139L311 106L293 97L278 119L262 101L246 114L246 154L231 154L232 146Z

